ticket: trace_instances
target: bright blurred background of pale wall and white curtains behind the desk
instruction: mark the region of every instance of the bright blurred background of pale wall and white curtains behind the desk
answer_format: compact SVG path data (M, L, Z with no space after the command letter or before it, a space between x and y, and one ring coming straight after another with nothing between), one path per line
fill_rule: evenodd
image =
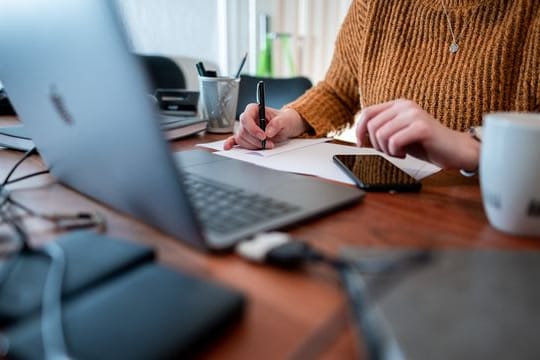
M233 75L324 77L351 0L117 0L135 52ZM189 75L188 75L189 76ZM189 80L188 80L189 87Z

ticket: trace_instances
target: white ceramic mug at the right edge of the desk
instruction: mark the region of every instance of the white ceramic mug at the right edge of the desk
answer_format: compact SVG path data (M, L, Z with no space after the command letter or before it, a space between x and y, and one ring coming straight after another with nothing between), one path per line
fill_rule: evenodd
M493 227L540 236L540 113L484 115L480 186Z

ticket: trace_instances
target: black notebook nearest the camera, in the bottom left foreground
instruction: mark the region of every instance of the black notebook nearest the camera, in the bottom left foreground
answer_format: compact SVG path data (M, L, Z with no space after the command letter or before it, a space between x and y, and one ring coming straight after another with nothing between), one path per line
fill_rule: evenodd
M238 320L243 296L149 263L63 304L69 358L191 358ZM42 359L39 316L3 332L8 357ZM46 345L45 345L46 346Z

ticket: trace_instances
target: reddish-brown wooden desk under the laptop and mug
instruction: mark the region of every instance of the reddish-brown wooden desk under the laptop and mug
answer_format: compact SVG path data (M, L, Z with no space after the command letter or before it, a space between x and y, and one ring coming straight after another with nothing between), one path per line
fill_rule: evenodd
M174 150L223 138L195 136ZM21 153L2 150L0 178ZM38 156L15 176L43 168ZM96 176L101 176L96 174ZM247 263L234 254L203 254L182 242L98 204L54 182L51 176L12 186L21 203L43 212L96 210L112 236L150 244L159 260L241 289L248 297L243 321L204 354L219 359L357 358L347 302L331 272L313 268L287 272ZM28 219L35 243L56 236L50 224ZM477 179L441 172L424 181L419 194L369 193L362 203L287 229L294 237L335 253L343 246L540 248L536 239L495 231L484 215Z

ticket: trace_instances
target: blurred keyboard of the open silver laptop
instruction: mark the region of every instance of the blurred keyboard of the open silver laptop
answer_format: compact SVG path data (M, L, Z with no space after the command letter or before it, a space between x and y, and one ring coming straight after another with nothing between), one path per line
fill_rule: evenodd
M229 233L257 222L267 222L299 209L195 174L185 174L184 184L203 226Z

